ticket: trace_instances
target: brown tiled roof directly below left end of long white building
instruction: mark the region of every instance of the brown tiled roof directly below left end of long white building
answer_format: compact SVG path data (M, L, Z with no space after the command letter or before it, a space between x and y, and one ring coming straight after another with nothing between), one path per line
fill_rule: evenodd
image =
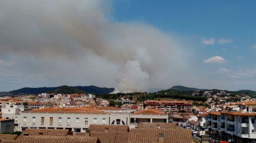
M42 132L43 135L39 135L39 132ZM28 136L65 136L72 135L68 129L25 129L22 134L17 138L21 140L24 137L24 134L29 134Z

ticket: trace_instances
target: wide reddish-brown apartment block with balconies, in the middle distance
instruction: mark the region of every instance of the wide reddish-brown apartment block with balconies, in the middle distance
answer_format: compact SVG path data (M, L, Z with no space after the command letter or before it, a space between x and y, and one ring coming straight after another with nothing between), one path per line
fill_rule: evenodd
M184 110L187 113L192 113L192 104L187 101L156 101L149 100L143 103L144 108L160 109L168 113L177 113Z

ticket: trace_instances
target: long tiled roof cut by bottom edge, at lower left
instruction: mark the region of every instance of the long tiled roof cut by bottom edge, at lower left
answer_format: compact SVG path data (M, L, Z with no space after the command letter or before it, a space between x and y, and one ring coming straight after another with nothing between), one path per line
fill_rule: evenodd
M100 143L97 137L81 136L24 136L18 141L19 143Z

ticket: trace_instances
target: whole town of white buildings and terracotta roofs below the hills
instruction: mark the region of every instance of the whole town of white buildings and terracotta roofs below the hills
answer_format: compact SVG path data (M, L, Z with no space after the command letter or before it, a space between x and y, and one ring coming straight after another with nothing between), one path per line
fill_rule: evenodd
M191 95L187 96L200 96L206 100L199 103L185 99L148 99L136 103L122 96L116 100L106 100L94 94L77 93L3 96L0 98L0 133L22 132L23 136L27 136L33 132L33 136L37 136L48 134L51 129L59 129L66 130L65 135L68 136L97 137L101 143L116 142L113 138L120 139L120 143L128 143L140 142L133 134L142 135L144 131L155 132L154 129L157 129L159 135L150 138L156 142L161 142L160 134L164 130L169 135L178 131L183 139L170 138L177 142L247 143L256 140L255 98L222 90L188 93ZM159 91L156 94L168 93ZM110 135L106 130L115 131L116 134ZM119 131L123 134L119 134ZM34 132L38 134L34 135ZM168 134L165 135L169 137ZM109 138L106 139L106 136ZM163 138L164 142L168 142ZM21 136L19 139L22 140ZM152 142L148 138L145 140Z

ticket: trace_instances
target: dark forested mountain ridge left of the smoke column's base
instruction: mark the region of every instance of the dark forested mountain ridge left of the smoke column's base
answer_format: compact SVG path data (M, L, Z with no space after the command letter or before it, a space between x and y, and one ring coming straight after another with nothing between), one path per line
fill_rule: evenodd
M74 86L72 88L64 88L64 87L71 87L71 86L42 87L42 88L22 88L22 89L12 90L12 91L9 91L9 92L13 93L13 94L18 94L18 93L40 94L40 93L46 93L46 92L49 92L49 91L55 92L57 89L59 89L60 91L69 90L69 91L75 91L76 93L81 93L82 91L84 91L86 93L108 94L108 93L114 91L114 88L100 88L100 87L96 87L96 86ZM63 88L65 90L63 90ZM80 91L80 90L82 90L82 91Z

